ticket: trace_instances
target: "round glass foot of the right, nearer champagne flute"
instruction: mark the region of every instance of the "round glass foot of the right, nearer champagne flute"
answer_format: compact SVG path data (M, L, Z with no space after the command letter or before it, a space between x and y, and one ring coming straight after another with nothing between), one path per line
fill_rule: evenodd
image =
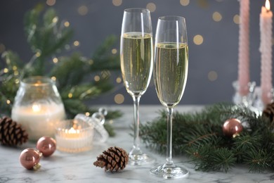
M188 177L189 172L183 167L174 165L174 163L164 163L150 169L150 174L164 179L181 179Z

